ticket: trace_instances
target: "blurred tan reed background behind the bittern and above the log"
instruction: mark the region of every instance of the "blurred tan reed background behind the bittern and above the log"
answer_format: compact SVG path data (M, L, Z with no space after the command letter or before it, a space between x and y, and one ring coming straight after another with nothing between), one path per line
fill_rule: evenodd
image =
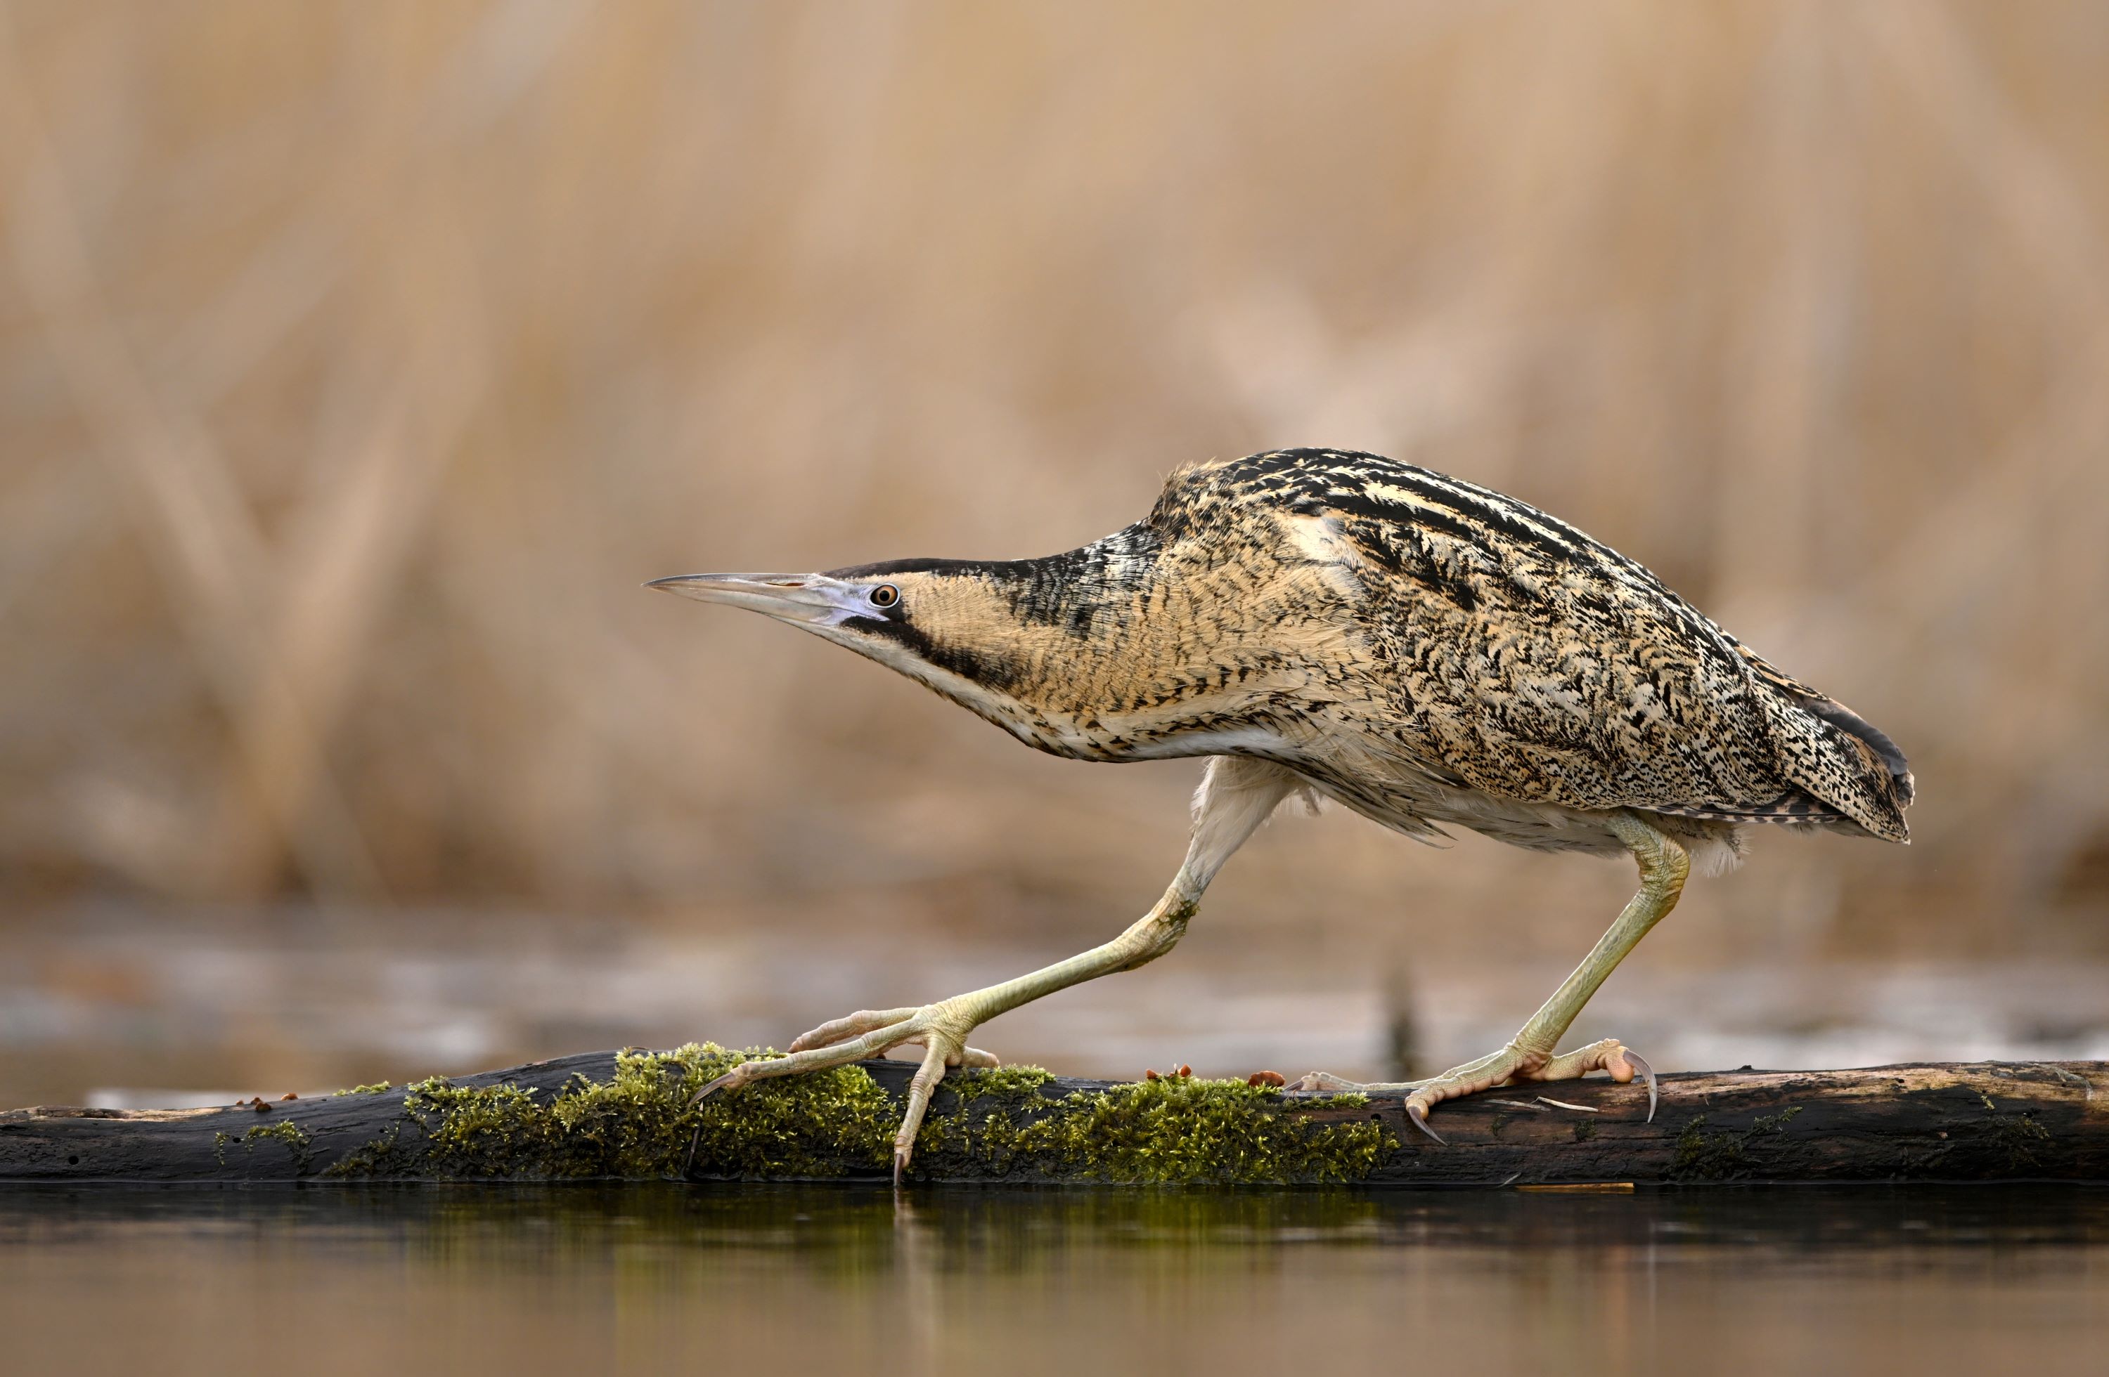
M1194 763L639 582L1276 445L1546 506L1911 753L1913 848L1761 833L1578 1035L2109 1054L2103 6L13 0L0 219L0 1101L780 1042L1116 932ZM1628 888L1284 818L985 1040L1466 1056Z

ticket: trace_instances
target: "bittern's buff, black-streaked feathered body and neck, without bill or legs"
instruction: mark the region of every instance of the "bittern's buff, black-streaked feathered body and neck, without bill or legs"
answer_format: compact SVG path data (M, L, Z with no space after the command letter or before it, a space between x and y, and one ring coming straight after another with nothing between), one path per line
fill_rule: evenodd
M896 561L879 654L1082 759L1257 755L1400 831L1611 850L1588 816L1907 839L1896 746L1641 563L1371 453L1175 472L1137 525L1023 561Z

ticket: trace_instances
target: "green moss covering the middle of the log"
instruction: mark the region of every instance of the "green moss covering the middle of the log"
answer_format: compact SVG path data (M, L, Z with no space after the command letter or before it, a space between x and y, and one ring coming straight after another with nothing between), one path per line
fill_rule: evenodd
M694 1103L696 1090L751 1056L713 1044L622 1052L605 1084L574 1075L555 1092L432 1078L405 1086L403 1120L327 1175L677 1177L692 1141L696 1168L713 1177L886 1172L901 1103L863 1067L761 1080ZM945 1111L924 1124L915 1164L947 1177L1356 1181L1398 1147L1375 1120L1318 1122L1291 1111L1278 1090L1244 1082L1166 1078L1054 1097L1052 1080L1038 1067L949 1075Z

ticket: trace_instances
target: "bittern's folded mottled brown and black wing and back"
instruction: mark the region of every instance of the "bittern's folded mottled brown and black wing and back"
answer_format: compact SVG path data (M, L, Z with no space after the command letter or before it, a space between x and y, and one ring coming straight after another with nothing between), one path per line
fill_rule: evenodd
M1208 479L1337 523L1409 740L1474 789L1902 839L1909 772L1885 736L1575 527L1377 455L1282 451Z

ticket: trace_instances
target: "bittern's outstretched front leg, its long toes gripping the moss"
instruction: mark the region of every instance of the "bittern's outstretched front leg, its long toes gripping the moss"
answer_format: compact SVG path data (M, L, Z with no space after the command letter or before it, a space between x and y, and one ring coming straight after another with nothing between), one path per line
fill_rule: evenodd
M915 1149L915 1130L922 1128L924 1111L930 1107L930 1092L945 1078L945 1067L995 1065L987 1052L966 1046L966 1035L974 1027L1057 989L1082 985L1116 970L1135 970L1170 951L1185 934L1187 922L1200 907L1202 890L1208 888L1215 873L1295 787L1297 776L1280 765L1232 755L1211 757L1208 772L1194 795L1194 837L1187 843L1185 862L1156 907L1114 940L1014 981L922 1008L863 1010L823 1023L793 1042L787 1056L744 1061L704 1086L696 1099L715 1090L738 1090L772 1075L825 1071L905 1044L922 1044L924 1061L909 1082L907 1113L901 1120L901 1132L894 1134L894 1181L898 1181L901 1168L907 1166L909 1153Z

